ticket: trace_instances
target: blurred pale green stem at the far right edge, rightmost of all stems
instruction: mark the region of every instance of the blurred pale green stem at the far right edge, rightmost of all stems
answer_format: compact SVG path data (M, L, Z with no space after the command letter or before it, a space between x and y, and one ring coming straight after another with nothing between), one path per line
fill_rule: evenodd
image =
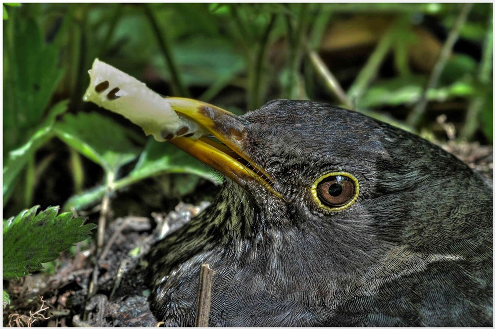
M487 86L490 82L490 73L493 63L493 4L488 17L487 34L483 44L483 55L478 71L478 81ZM464 140L470 140L479 124L479 115L485 105L485 97L483 95L476 96L470 103L466 112L466 123L462 127L460 137Z

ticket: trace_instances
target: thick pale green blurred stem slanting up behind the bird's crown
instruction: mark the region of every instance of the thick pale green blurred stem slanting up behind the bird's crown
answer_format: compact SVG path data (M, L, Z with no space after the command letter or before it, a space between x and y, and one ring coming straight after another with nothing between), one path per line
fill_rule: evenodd
M375 50L371 54L370 58L361 69L356 77L356 80L350 86L347 92L347 98L352 102L355 108L361 96L364 94L371 81L376 77L380 65L382 64L385 56L389 53L392 47L392 41L394 39L394 26L382 37Z

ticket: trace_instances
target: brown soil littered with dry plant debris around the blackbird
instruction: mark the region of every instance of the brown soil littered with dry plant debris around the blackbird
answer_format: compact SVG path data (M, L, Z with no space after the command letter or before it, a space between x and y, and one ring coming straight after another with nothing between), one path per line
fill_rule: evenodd
M453 141L441 146L493 179L493 146ZM94 244L80 244L74 257L62 253L55 274L4 282L11 304L3 310L3 326L159 326L147 302L150 291L142 256L153 242L166 238L208 204L179 203L175 210L149 218L117 218L108 225L98 258Z

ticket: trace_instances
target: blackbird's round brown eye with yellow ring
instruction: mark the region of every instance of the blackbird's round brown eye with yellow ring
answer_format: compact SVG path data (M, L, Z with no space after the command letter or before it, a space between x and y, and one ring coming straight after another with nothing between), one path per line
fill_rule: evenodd
M323 209L344 210L356 201L359 183L353 175L346 172L326 173L314 182L311 193Z

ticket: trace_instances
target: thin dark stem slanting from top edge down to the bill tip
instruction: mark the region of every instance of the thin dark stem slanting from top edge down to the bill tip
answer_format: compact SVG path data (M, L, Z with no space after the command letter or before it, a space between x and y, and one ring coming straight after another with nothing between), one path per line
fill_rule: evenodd
M145 8L145 14L148 17L149 24L151 24L154 35L156 37L156 41L158 42L158 47L160 47L160 50L165 57L165 63L167 64L168 70L170 71L173 93L181 97L191 97L189 91L186 88L186 85L182 80L182 76L179 74L179 68L177 66L177 63L175 62L174 56L172 55L168 39L163 33L161 33L158 22L156 21L151 8L149 7L150 4L145 3L143 6Z

